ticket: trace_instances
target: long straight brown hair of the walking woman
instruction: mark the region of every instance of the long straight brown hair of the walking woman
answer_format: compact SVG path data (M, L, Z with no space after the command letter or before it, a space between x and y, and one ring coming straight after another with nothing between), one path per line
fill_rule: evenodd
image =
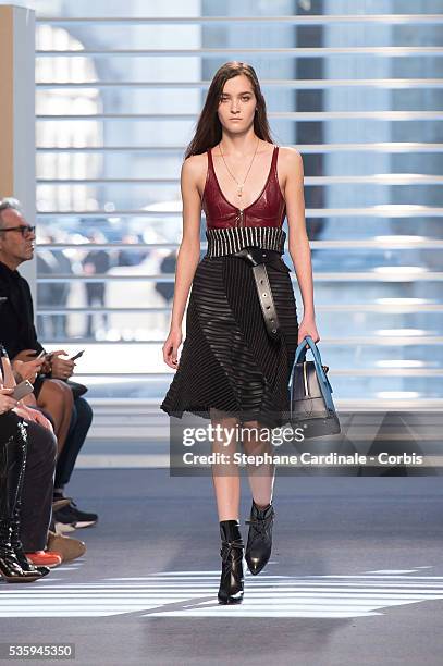
M213 148L222 138L222 125L218 116L218 108L220 96L223 91L223 86L230 78L245 74L253 85L254 94L257 100L257 111L254 116L254 132L256 135L273 144L271 130L269 127L266 101L260 89L260 84L253 65L246 62L232 60L225 62L214 74L211 85L208 89L205 106L201 110L197 122L197 128L194 138L188 144L184 159L190 155L200 155L206 152L208 148Z

